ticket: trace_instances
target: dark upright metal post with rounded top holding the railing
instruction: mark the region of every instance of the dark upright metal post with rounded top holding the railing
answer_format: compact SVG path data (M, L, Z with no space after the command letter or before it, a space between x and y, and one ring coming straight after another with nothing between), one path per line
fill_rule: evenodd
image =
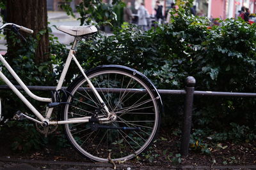
M180 147L182 157L188 156L195 83L196 80L193 76L188 76L186 78L186 101L184 104L184 120Z

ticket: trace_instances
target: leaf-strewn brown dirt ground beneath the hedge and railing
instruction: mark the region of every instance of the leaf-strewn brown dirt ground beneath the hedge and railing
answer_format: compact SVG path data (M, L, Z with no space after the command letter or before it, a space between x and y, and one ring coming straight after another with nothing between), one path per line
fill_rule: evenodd
M7 129L8 130L8 129ZM12 138L15 131L6 128L0 131L0 157L12 157L13 159L32 159L32 160L56 160L56 161L85 161L73 148L67 146L65 148L56 149L54 143L49 143L46 148L40 150L30 150L22 152L22 150L12 150ZM128 160L127 164L140 164L141 166L163 166L171 167L177 165L256 165L256 142L253 143L216 143L209 145L210 153L202 153L200 146L193 146L189 149L189 155L182 158L179 154L180 137L168 134L164 131L159 133L154 145L147 152L142 153L138 157Z

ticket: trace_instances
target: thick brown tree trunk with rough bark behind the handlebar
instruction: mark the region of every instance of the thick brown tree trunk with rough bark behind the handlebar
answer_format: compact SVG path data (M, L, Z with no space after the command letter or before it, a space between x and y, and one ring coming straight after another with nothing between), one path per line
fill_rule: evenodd
M34 31L34 36L36 36L39 31L45 31L44 34L40 34L35 53L35 62L38 64L46 61L49 56L46 0L8 0L6 10L7 22L12 22L32 29ZM8 53L12 53L13 51L15 51L15 46L8 46Z

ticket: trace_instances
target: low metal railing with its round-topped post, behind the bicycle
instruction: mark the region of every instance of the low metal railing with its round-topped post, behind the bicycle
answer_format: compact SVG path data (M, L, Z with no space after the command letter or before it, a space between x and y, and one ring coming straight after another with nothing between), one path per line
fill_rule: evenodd
M192 110L193 110L193 98L194 96L223 96L223 97L256 97L256 93L239 93L239 92L212 92L212 91L195 91L196 80L193 76L188 76L185 80L186 87L185 90L162 90L159 89L159 94L172 94L172 95L185 95L184 102L184 119L182 126L182 138L180 145L180 153L182 157L188 156L189 151L189 139L191 132L191 122L192 122ZM22 87L15 86L18 90L22 90ZM0 85L0 90L10 89L7 85ZM56 90L56 87L51 86L28 86L29 90L35 91L49 91ZM67 87L63 87L67 89ZM90 89L88 89L90 90ZM113 92L120 92L124 89L112 89ZM108 89L110 92L111 89ZM132 89L131 92L141 92L140 89Z

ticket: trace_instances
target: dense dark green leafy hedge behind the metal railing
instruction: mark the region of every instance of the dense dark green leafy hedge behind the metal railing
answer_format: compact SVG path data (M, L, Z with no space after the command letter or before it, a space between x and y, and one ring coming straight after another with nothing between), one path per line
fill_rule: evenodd
M255 25L242 20L227 19L221 21L221 26L211 27L208 18L179 10L175 15L173 12L171 24L150 31L124 25L116 29L113 36L97 34L81 41L76 56L84 69L104 64L137 69L158 89L184 89L184 79L194 76L196 90L255 92L255 32ZM15 71L25 78L25 83L51 85L60 76L67 50L54 39L52 42L51 60L42 66L30 62L33 55L22 54L11 61ZM24 49L24 52L30 52L29 48ZM24 56L28 59L22 60ZM28 63L32 64L27 68ZM56 65L54 72L53 67L47 67L52 64ZM33 73L31 78L25 76L28 71ZM72 81L74 74L79 71L72 65L65 85ZM36 76L40 78L39 83ZM163 127L179 127L184 98L163 96L163 102ZM216 140L221 140L221 136L227 140L255 140L254 106L253 98L195 97L193 129L204 131L204 136L214 133ZM228 134L227 138L223 132Z

